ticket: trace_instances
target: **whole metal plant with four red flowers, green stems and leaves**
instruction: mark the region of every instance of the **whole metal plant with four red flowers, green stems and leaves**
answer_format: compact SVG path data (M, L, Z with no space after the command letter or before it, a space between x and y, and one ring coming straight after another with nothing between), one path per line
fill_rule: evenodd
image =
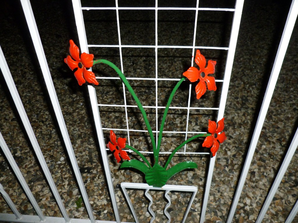
M181 163L178 163L170 168L167 168L168 165L170 164L171 159L175 155L175 153L181 149L184 145L186 145L188 142L198 138L198 137L206 137L202 146L203 147L211 147L211 153L212 156L215 156L218 148L219 148L219 143L224 142L226 140L226 135L223 131L224 129L224 118L222 118L217 124L214 121L209 120L209 125L208 125L208 131L209 133L205 134L198 134L195 135L186 141L184 141L181 145L176 147L173 152L170 154L170 156L167 159L166 164L164 167L160 166L158 161L159 161L159 150L162 142L162 132L164 128L164 123L166 120L167 112L170 108L170 103L173 99L173 96L175 95L175 92L179 88L180 84L188 79L191 82L199 81L198 84L195 87L195 92L197 95L197 99L200 99L202 95L205 94L207 88L208 90L216 90L216 85L215 85L215 78L212 76L209 76L209 74L213 74L215 72L215 65L216 61L209 60L207 67L206 67L206 59L205 57L200 53L199 50L196 52L195 56L195 63L198 65L199 69L196 67L190 67L187 71L183 73L183 76L178 81L176 86L174 87L173 91L170 94L170 97L168 99L167 105L164 110L164 114L162 117L160 129L159 129L159 135L157 139L157 145L156 141L153 136L153 131L151 129L150 123L148 121L146 112L140 103L138 97L136 96L134 90L128 83L127 79L125 78L124 74L119 70L117 66L115 66L113 63L105 60L105 59L98 59L98 60L93 60L94 55L93 54L87 54L87 53L82 53L80 56L79 48L75 45L75 43L70 40L70 56L67 56L64 59L64 62L69 66L71 70L74 70L77 68L75 71L75 77L77 78L78 84L82 85L84 83L89 82L95 85L98 85L99 83L96 80L96 77L93 72L87 70L86 68L90 68L95 64L99 63L104 63L106 65L109 65L112 67L125 86L127 87L128 91L131 93L132 97L136 101L137 106L139 107L142 116L145 121L145 125L148 129L151 143L152 143L152 148L153 148L153 156L154 156L154 164L151 166L149 161L145 158L145 156L142 155L138 150L136 150L134 147L127 145L126 144L126 139L119 137L117 139L116 134L111 130L110 131L110 142L106 145L112 152L114 152L114 156L119 163L122 159L125 159L125 161L120 165L120 168L135 168L141 171L142 173L145 174L145 180L150 186L155 186L155 187L162 187L167 183L167 180L169 180L171 177L173 177L175 174L185 170L185 169L192 169L192 168L198 168L197 164L195 162L191 161L184 161ZM207 88L206 88L207 84ZM137 155L141 157L141 159L144 162L141 162L136 159L130 159L127 152L124 151L123 149L129 149L134 151ZM121 158L120 158L121 157Z

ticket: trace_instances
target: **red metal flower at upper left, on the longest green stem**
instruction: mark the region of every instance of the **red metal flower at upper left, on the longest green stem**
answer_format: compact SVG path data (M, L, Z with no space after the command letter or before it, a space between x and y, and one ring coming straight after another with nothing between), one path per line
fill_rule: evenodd
M98 82L95 78L95 74L92 71L86 70L86 67L92 67L94 55L82 53L80 57L80 50L75 45L74 41L69 40L69 43L69 53L72 57L67 56L64 59L64 62L69 66L71 70L77 68L77 71L75 72L75 77L77 78L77 82L79 83L79 85L81 86L82 84L86 83L86 81L98 85ZM75 60L73 60L72 58Z

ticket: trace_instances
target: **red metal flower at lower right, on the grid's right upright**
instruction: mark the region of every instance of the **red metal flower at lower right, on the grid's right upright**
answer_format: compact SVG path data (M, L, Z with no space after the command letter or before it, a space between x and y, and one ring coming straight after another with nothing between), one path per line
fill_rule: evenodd
M219 148L219 143L223 143L226 140L226 134L222 132L219 134L221 131L224 130L224 118L218 121L217 123L217 128L216 128L216 122L210 121L209 120L209 125L208 125L208 131L211 133L211 136L207 136L203 142L204 147L211 147L211 153L212 156L215 156L218 148Z

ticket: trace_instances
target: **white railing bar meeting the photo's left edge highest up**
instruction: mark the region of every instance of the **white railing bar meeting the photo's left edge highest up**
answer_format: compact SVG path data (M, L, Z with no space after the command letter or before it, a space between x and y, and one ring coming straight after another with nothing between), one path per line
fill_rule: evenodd
M60 211L65 219L66 222L69 222L68 214L66 213L65 207L62 203L61 197L58 193L58 190L55 186L54 180L51 176L51 173L49 171L48 166L46 165L46 161L44 159L44 156L41 152L41 149L38 145L37 139L34 135L32 126L30 125L30 121L27 117L26 111L24 109L23 103L21 101L20 95L18 94L18 90L15 87L15 83L13 82L13 77L11 76L10 70L8 68L7 62L5 60L4 54L2 52L2 49L0 47L0 67L1 71L3 73L4 79L6 81L6 84L10 90L10 95L13 99L13 102L15 103L15 107L18 110L18 114L20 115L21 121L24 125L24 128L26 130L27 136L31 142L31 145L35 151L36 157L41 165L41 168L44 172L44 175L46 177L47 182L49 183L50 189L52 190L53 196L56 199L57 205L60 208ZM39 213L39 212L38 212ZM42 216L41 216L42 217Z

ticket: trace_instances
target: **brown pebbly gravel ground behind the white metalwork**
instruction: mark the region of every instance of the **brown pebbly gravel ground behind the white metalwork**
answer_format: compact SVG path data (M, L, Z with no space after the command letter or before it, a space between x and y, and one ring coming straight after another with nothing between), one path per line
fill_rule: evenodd
M97 1L82 1L82 6L95 6ZM131 6L132 1L119 1L120 7ZM98 2L97 2L98 3ZM225 132L227 140L221 145L216 156L215 170L210 188L209 201L205 222L225 222L232 203L238 178L244 165L246 153L254 131L260 106L264 97L268 79L271 73L277 48L283 32L290 1L245 1L240 23L239 37L236 47L231 82L225 109ZM2 3L1 3L2 4ZM69 39L78 43L71 1L32 0L32 9L44 46L46 59L57 92L60 107L85 183L86 191L97 220L114 221L102 161L99 153L87 86L77 85L73 72L64 64L63 58L68 54ZM113 1L106 1L99 6L114 6ZM136 3L136 6L139 3ZM160 6L180 6L182 3L174 1L159 1ZM200 1L200 7L233 7L233 1ZM153 1L147 1L145 7L154 7ZM15 85L18 89L24 108L32 125L37 141L46 159L49 170L57 189L71 218L88 218L84 205L78 207L76 201L80 198L80 191L74 176L62 136L57 128L49 96L46 92L41 70L34 52L33 44L28 34L27 24L18 1L4 0L4 10L0 15L0 45L10 67ZM195 7L193 1L183 1L183 7ZM140 12L122 10L119 12L122 44L155 45L155 11ZM160 10L159 18L159 45L192 45L194 12ZM136 19L137 18L137 19ZM85 26L89 44L118 44L117 21L115 12L108 10L84 11ZM211 45L227 47L229 40L232 12L200 11L198 20L196 45ZM297 52L298 52L297 23L289 43L279 79L268 114L260 135L259 142L249 169L243 191L235 212L233 222L254 222L262 207L274 176L279 170L285 152L297 128ZM120 66L119 49L117 48L90 48L90 53L96 59L103 58ZM226 51L201 50L207 59L217 61L216 79L222 79ZM127 77L155 77L154 49L123 48L123 67ZM191 50L188 49L160 49L159 50L159 78L178 78L189 66ZM93 69L97 76L116 77L113 70L98 65ZM144 105L155 106L154 81L131 81L136 94ZM175 81L161 81L159 83L158 105L165 106ZM194 85L195 86L195 85ZM193 87L194 87L193 86ZM217 82L217 92L207 92L207 96L196 100L192 95L191 107L216 107L219 105L221 82ZM123 104L123 91L120 81L103 80L96 87L98 103ZM194 93L194 92L193 92ZM153 96L152 96L153 94ZM135 105L127 94L127 104ZM173 99L172 106L187 106L188 83L182 85ZM155 110L146 109L150 123L156 123ZM161 119L162 110L157 117ZM61 217L51 190L43 177L38 161L33 154L32 146L28 142L20 118L13 105L9 90L4 78L0 75L0 131L15 158L21 172L26 179L35 199L45 216ZM125 110L121 107L100 108L102 124L105 128L126 128ZM130 128L145 129L142 117L137 109L128 109ZM167 117L166 131L184 131L186 112L183 109L170 110ZM208 110L190 111L189 131L200 131L206 128L209 118L216 118L216 113ZM111 123L111 119L113 123ZM200 123L198 123L200 121ZM156 126L153 125L153 130ZM108 141L108 130L104 131ZM125 134L117 131L117 134ZM166 146L162 151L173 150L171 145L179 145L184 139L181 134L166 134ZM148 136L143 133L130 135L132 146L146 151ZM197 141L188 145L188 151L202 151ZM119 165L108 152L111 174L117 196L121 220L134 222L120 189L121 182L143 183L142 175L130 170L120 170ZM166 157L160 157L164 162ZM265 215L263 222L284 222L291 208L297 200L298 153L289 164L277 193ZM187 218L188 222L198 222L201 211L202 196L206 180L206 169L209 156L177 156L173 162L184 160L195 161L198 169L185 171L170 179L168 184L194 185L198 193ZM32 205L28 202L24 191L16 182L4 154L0 155L0 183L18 207L21 214L35 215ZM140 222L149 222L147 212L148 200L144 191L129 191L131 200L136 204L136 213L139 213ZM152 209L156 212L156 222L166 222L163 208L166 200L161 192L151 192L156 200ZM169 209L174 222L179 222L181 210L185 210L190 194L170 193L172 206ZM180 211L179 211L180 210ZM0 197L0 213L12 213ZM1 220L1 219L0 219ZM298 222L298 216L294 222Z

